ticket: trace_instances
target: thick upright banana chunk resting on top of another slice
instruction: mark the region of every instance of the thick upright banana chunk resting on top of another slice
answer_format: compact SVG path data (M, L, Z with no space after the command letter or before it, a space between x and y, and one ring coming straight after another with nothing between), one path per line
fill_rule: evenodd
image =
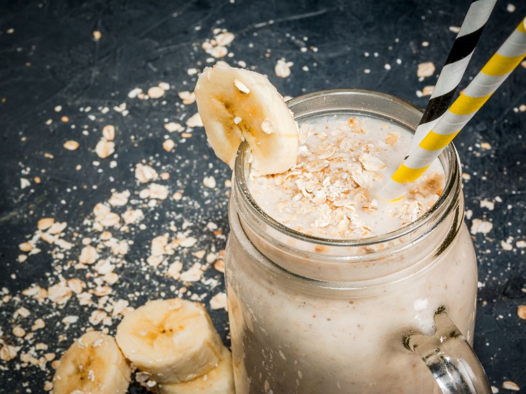
M116 339L126 358L158 383L204 375L223 347L203 305L179 298L149 301L126 314Z

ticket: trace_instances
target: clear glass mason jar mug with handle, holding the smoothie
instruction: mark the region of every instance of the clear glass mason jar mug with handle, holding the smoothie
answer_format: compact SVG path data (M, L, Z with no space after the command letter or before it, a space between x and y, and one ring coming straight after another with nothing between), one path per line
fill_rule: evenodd
M287 104L298 123L359 114L414 132L422 115L368 90L326 90ZM452 144L440 155L446 186L428 213L350 241L307 236L270 218L248 191L246 153L242 145L232 177L225 259L237 394L491 392L469 345L477 261Z

